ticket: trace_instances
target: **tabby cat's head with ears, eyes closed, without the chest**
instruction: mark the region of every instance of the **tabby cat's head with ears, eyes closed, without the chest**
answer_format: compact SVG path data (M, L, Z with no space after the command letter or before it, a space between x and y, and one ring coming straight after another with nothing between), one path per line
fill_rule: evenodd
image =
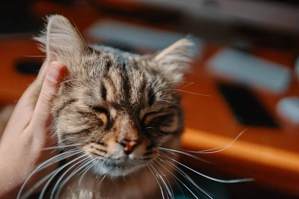
M98 174L127 175L156 158L155 147L178 142L183 113L176 89L194 56L190 39L146 56L87 47L66 18L54 15L37 40L47 59L69 70L53 100L58 142L81 144Z

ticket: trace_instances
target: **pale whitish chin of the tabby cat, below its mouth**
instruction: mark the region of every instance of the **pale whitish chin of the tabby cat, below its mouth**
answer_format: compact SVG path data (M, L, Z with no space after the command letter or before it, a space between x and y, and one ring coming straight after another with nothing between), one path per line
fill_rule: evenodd
M135 164L135 165L108 165L105 163L100 163L94 166L94 173L97 176L109 176L113 178L127 176L140 170L145 164Z

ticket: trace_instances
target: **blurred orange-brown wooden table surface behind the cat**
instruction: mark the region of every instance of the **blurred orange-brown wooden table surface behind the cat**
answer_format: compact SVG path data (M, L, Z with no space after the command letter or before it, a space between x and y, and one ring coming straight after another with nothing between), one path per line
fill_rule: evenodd
M56 12L71 16L82 31L101 17L96 10L74 7L68 10L51 4L37 4L36 16ZM14 61L24 55L43 55L31 35L0 38L0 102L15 102L32 82L34 76L16 72ZM186 130L182 136L183 147L190 150L205 150L229 144L246 126L234 118L227 103L215 87L215 79L206 72L206 61L222 46L205 44L204 54L194 64L194 72L187 77L194 84L185 91L211 95L203 97L182 93L186 114ZM293 57L288 52L257 49L255 54L264 59L291 67ZM299 96L299 83L292 82L284 96L273 96L256 91L256 95L270 112L275 113L275 105L284 96ZM285 124L286 122L283 122ZM240 177L253 177L257 184L281 189L299 196L299 128L283 125L282 129L251 128L235 144L220 153L205 154L202 157L222 162L221 170ZM201 163L194 163L200 167ZM208 166L207 166L208 167Z

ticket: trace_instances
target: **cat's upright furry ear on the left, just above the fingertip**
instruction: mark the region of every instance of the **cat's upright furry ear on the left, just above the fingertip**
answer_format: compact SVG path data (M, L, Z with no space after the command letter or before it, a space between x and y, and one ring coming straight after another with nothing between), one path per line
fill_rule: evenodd
M41 49L46 52L48 61L69 64L88 50L80 33L67 18L51 15L47 21L46 29L34 39L41 43Z

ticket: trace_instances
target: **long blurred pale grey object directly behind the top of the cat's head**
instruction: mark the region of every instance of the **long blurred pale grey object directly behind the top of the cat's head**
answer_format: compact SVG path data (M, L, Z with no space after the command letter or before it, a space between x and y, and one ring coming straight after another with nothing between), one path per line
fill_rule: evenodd
M100 20L85 32L88 38L101 41L106 45L127 51L144 50L155 52L162 50L187 35L171 31L162 31L147 26L139 26L115 20ZM192 37L196 46L190 49L194 54L201 54L202 41Z

